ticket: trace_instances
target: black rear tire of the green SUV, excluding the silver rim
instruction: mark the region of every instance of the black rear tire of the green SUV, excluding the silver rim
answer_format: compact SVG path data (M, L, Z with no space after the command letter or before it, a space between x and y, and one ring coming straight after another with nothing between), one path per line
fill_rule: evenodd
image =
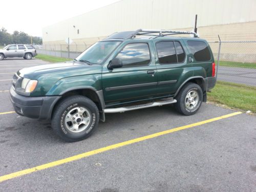
M186 108L186 97L190 92L197 92L198 94L198 102L195 105L194 109ZM203 101L203 91L201 87L196 83L186 83L185 86L179 91L177 97L175 98L177 103L174 104L176 110L183 115L194 115L200 109L202 101Z

